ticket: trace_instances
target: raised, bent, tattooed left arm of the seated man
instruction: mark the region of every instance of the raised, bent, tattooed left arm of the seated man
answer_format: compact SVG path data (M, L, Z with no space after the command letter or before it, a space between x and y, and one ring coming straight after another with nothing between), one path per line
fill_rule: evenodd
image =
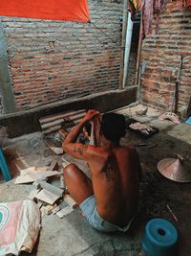
M91 146L83 145L81 143L76 143L76 139L77 139L79 133L84 128L85 124L87 122L92 121L94 119L94 117L96 117L96 115L99 115L98 111L89 110L86 113L85 117L80 121L80 123L69 132L66 139L62 143L62 148L64 151L71 154L75 158L84 159L84 160L87 159L87 157L90 154Z

